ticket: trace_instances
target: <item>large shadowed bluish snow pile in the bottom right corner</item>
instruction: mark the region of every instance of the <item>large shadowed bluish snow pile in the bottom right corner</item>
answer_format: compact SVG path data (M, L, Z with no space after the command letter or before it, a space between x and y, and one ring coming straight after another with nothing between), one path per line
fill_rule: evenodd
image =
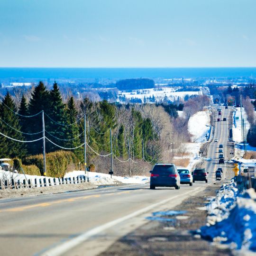
M256 252L256 192L238 192L236 183L225 184L206 206L208 218L202 238L229 244L233 249Z

